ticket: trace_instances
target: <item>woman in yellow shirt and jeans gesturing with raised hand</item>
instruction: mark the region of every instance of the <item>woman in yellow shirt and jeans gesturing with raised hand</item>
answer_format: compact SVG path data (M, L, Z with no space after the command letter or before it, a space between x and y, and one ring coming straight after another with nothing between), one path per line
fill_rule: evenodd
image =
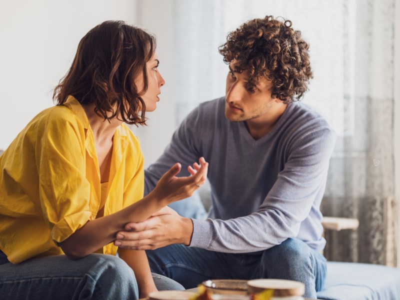
M2 296L132 299L156 290L145 252L118 250L115 234L190 196L207 172L200 158L176 177L176 163L142 198L143 157L124 123L144 124L155 109L157 67L153 36L122 21L97 25L56 86L56 106L0 156Z

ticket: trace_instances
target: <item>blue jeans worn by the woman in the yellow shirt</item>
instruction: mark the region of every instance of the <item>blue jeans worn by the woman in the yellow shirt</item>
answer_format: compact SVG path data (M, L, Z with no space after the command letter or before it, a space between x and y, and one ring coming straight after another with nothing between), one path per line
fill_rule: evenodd
M153 274L158 289L183 289L164 276ZM133 270L120 258L90 254L78 260L65 255L7 262L0 251L1 299L137 299Z

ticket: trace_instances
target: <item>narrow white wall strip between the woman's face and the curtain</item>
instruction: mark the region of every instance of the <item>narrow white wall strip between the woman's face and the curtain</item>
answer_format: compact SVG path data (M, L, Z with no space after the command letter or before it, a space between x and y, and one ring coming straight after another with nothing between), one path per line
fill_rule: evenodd
M148 166L163 152L176 128L173 51L172 3L173 1L137 0L136 24L154 33L157 37L157 55L160 60L158 70L165 80L161 87L157 109L147 112L147 126L132 126L132 131L140 138L144 153L144 166Z

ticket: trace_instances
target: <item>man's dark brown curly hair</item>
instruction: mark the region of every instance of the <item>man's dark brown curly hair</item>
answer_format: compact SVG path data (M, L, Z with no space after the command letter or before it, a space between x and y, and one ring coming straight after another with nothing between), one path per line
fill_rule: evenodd
M300 31L291 28L290 20L271 15L249 20L230 32L219 53L227 64L237 61L235 72L248 72L248 90L254 92L259 79L271 80L272 98L284 103L299 100L312 77L308 44Z

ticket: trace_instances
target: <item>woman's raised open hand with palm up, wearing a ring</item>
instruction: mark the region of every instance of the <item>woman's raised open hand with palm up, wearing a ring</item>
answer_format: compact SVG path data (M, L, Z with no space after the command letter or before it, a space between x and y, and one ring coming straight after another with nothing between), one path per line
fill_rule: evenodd
M176 177L181 166L180 163L175 163L162 175L151 193L158 199L165 201L165 205L190 197L207 178L208 162L203 157L200 157L198 162L194 162L193 166L187 167L190 173L190 176L187 177Z

